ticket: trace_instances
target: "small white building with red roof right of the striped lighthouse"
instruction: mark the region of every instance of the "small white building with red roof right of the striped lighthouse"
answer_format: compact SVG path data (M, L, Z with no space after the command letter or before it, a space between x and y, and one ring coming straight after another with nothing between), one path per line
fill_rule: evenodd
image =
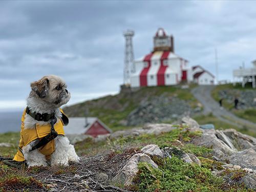
M192 74L194 82L201 85L214 84L215 76L209 71L202 68L202 66L192 67Z

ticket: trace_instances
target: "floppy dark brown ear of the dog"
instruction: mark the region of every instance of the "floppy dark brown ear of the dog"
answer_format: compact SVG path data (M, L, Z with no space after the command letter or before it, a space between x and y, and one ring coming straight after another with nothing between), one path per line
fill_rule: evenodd
M32 91L36 93L36 95L38 95L40 98L45 98L49 90L49 79L46 77L43 77L38 81L32 82L30 84L30 87Z

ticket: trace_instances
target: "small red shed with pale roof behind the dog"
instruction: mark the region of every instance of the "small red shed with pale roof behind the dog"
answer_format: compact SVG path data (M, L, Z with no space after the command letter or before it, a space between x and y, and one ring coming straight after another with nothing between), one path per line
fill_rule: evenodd
M70 117L69 124L64 126L65 134L86 134L93 137L112 133L97 117Z

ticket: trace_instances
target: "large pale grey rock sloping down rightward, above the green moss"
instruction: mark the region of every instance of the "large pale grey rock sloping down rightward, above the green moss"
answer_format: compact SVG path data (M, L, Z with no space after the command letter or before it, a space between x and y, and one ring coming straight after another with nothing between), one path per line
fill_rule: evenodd
M191 143L198 146L212 147L213 154L217 158L226 157L237 152L216 136L216 130L202 130L201 137L194 138Z

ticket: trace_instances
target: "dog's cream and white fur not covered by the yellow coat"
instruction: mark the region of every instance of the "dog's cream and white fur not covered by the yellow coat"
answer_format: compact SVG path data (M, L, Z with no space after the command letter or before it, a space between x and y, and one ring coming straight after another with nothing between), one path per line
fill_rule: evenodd
M58 76L44 76L38 81L31 83L31 92L27 99L27 105L30 111L36 113L53 113L57 121L60 121L61 113L59 108L66 104L71 95L67 90L66 83ZM37 121L30 115L25 115L24 129L33 129L35 124L45 125L50 123ZM55 139L55 152L51 155L50 165L69 165L69 161L78 162L79 157L76 155L74 146L70 144L67 137L58 135ZM31 147L37 141L32 141L23 147L23 154L29 167L31 166L47 166L46 157L38 150L30 152Z

